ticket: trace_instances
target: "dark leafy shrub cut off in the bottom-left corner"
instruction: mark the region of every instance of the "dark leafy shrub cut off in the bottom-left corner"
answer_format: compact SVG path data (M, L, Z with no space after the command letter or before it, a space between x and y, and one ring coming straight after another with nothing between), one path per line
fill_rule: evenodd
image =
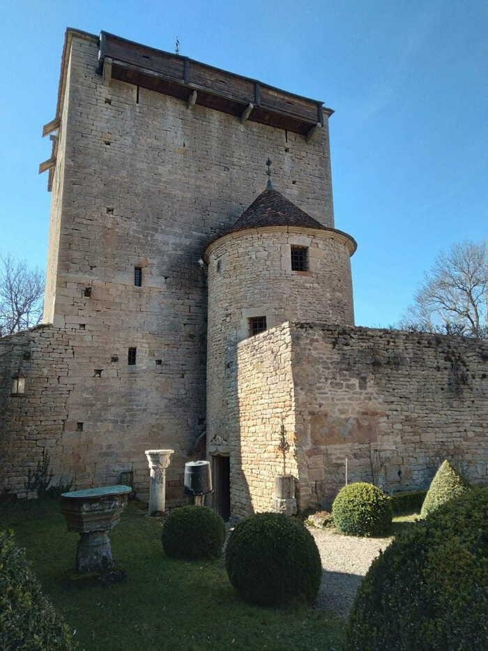
M0 648L37 651L77 648L13 532L0 531Z

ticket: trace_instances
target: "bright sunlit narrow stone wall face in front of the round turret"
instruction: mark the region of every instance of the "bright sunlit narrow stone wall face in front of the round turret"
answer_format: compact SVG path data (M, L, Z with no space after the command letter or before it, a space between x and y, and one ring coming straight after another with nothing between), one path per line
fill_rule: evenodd
M282 425L290 444L285 472L298 476L288 324L241 342L236 352L226 384L231 512L245 516L273 510L275 477L284 471L278 449Z

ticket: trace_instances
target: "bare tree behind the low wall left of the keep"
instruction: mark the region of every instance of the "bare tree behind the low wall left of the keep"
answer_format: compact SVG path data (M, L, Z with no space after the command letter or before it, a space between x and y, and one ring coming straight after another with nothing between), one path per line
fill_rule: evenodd
M43 315L43 272L8 253L0 257L0 336L40 322Z

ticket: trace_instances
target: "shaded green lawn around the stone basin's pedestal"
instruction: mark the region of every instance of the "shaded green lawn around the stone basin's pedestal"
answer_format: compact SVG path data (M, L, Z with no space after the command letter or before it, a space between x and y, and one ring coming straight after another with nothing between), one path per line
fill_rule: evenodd
M333 613L304 605L245 604L222 560L167 558L160 521L137 504L128 505L111 535L114 559L127 571L127 581L107 588L66 588L63 578L74 567L78 535L66 531L58 502L3 505L0 523L15 530L82 649L337 650L344 641L344 622Z

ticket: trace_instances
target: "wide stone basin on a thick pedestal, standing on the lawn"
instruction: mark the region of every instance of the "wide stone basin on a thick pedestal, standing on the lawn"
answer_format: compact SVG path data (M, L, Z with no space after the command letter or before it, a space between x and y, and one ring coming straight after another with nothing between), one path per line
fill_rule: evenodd
M102 486L61 495L61 513L66 518L68 531L80 535L77 571L105 571L112 567L108 532L119 523L131 491L130 486Z

